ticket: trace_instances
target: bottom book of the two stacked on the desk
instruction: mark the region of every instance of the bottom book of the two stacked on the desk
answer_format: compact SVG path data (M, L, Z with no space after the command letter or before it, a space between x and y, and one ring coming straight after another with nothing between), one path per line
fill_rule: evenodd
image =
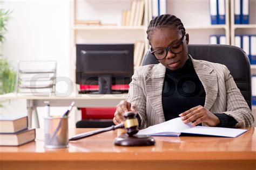
M0 133L0 146L19 146L29 143L35 138L35 129L26 129L17 133Z

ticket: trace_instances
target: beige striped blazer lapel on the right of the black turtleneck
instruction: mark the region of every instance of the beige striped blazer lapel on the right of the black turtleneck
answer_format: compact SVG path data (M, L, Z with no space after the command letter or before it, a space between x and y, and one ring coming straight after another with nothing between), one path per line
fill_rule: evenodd
M205 89L206 96L204 107L210 110L218 94L217 74L213 71L212 68L204 65L199 60L192 59L192 63Z

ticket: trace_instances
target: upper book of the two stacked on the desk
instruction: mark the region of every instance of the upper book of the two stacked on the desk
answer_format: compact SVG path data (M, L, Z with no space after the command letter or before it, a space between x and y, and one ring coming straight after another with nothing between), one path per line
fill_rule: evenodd
M15 133L28 128L28 116L0 115L0 133Z

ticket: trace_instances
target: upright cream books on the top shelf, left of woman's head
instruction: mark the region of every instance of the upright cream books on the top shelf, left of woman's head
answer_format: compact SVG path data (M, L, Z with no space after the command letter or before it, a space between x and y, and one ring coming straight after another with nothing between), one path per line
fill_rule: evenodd
M143 25L144 1L132 1L131 9L122 12L122 26Z

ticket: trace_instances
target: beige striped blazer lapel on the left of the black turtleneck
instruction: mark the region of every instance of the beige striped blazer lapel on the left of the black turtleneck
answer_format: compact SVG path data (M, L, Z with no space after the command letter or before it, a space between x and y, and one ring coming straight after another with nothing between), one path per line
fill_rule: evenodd
M152 108L159 117L162 119L162 122L165 122L163 104L162 104L162 91L165 77L165 66L159 63L155 68L152 69L152 72L148 74L145 80L146 93L149 99Z

